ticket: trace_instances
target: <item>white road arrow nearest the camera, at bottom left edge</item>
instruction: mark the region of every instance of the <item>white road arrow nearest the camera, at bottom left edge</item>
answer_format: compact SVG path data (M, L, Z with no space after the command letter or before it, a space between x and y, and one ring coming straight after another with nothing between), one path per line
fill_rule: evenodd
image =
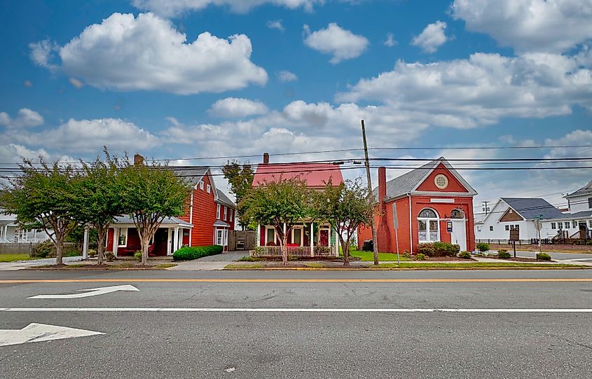
M63 340L64 338L97 336L99 331L67 328L47 324L29 324L22 329L0 329L0 346L19 345L21 343Z

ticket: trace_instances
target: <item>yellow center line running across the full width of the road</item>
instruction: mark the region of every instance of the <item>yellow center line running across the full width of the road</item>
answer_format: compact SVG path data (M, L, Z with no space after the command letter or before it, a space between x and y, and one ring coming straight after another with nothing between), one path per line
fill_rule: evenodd
M514 283L514 282L592 282L592 278L443 278L443 279L48 279L0 280L0 284L27 283Z

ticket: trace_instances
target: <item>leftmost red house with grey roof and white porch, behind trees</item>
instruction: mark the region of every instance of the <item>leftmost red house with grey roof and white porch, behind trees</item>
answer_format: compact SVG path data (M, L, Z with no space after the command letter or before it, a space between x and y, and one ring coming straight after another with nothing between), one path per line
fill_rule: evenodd
M216 189L209 167L179 166L171 170L188 180L191 195L188 211L167 217L153 238L151 256L172 255L183 246L221 245L228 250L228 232L234 230L236 205ZM113 237L116 236L116 237ZM129 216L121 216L109 228L106 250L116 256L133 255L140 249L139 235Z

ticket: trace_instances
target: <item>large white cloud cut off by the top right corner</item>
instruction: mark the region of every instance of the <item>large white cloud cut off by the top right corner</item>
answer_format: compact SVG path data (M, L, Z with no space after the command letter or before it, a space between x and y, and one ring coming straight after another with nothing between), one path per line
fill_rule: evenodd
M452 11L518 52L558 53L592 39L591 0L455 0Z

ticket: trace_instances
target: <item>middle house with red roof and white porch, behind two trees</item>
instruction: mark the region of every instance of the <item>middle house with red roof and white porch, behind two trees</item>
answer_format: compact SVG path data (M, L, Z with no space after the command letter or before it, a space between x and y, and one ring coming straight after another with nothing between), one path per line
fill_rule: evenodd
M263 154L263 163L257 166L253 186L264 186L278 179L298 178L308 188L320 190L331 180L333 185L343 182L338 165L331 163L269 163L269 155ZM281 256L280 240L271 225L257 226L256 256ZM304 219L288 233L288 254L293 256L338 256L336 230L329 223Z

